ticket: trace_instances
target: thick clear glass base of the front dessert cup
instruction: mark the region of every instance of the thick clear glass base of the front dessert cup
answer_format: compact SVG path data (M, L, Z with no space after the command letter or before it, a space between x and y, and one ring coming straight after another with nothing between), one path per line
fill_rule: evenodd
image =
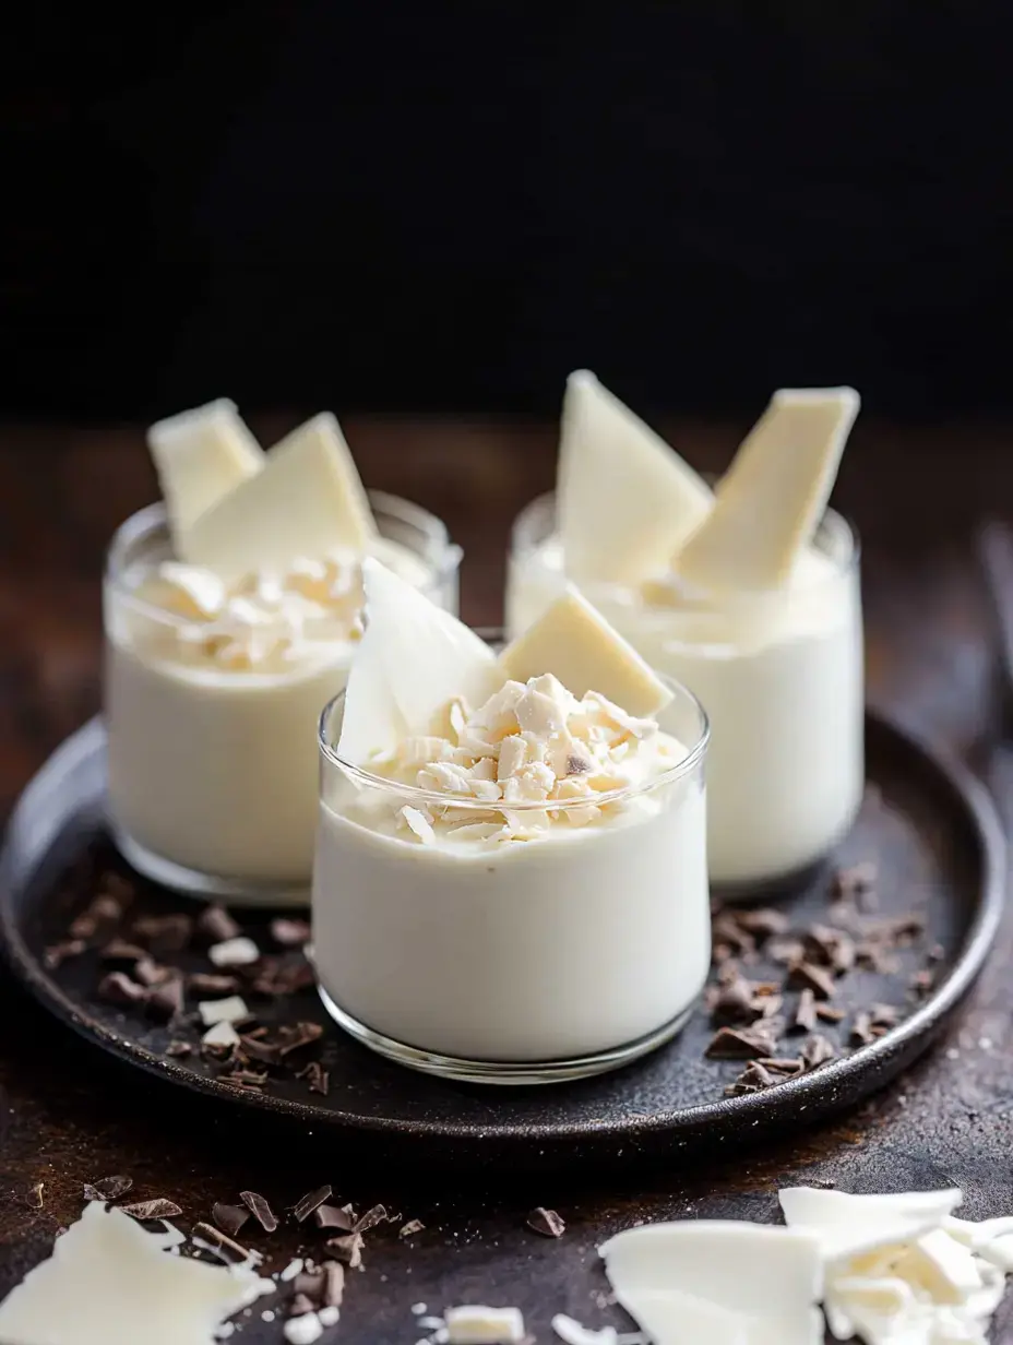
M355 1041L378 1056L385 1056L398 1065L408 1065L409 1069L418 1069L425 1075L437 1075L440 1079L452 1079L455 1083L471 1084L557 1084L569 1079L589 1079L592 1075L604 1075L609 1069L619 1069L628 1065L640 1056L656 1050L685 1028L696 1006L693 999L686 1009L675 1018L663 1024L655 1032L623 1046L613 1046L611 1050L601 1050L593 1056L576 1056L570 1060L461 1060L457 1056L441 1056L433 1050L421 1050L418 1046L406 1046L402 1041L385 1037L382 1032L374 1032L366 1024L359 1022L350 1013L346 1013L317 983L317 993L327 1013L339 1028L354 1037Z

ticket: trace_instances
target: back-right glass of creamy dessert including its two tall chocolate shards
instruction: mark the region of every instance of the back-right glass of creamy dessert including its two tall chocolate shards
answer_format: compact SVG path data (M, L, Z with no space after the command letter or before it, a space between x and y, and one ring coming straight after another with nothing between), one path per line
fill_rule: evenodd
M712 881L821 859L864 785L858 547L825 512L858 398L784 390L716 492L589 374L566 393L557 498L514 530L507 633L577 584L712 724Z

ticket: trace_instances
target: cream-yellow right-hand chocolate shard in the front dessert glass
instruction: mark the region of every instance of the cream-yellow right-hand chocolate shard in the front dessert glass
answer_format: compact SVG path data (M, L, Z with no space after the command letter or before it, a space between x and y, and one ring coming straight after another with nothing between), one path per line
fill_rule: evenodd
M673 693L572 585L499 655L509 678L552 672L580 699L597 691L627 714L654 716Z

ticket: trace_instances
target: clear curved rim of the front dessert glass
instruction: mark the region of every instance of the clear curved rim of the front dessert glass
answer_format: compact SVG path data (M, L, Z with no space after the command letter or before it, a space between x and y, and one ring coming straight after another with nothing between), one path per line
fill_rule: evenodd
M492 644L496 638L502 642L503 631L500 627L474 627L476 635L479 635L486 643ZM601 807L607 803L620 803L628 799L639 798L644 794L652 794L655 790L665 787L666 784L674 784L677 780L691 776L698 767L704 764L708 753L708 746L710 745L710 717L704 709L700 697L697 697L685 682L679 682L665 672L658 672L655 675L661 678L665 685L675 693L675 698L682 697L690 703L696 712L698 720L698 729L696 734L696 741L693 745L683 744L687 746L685 757L681 757L673 765L663 771L661 775L655 776L652 780L646 780L640 784L626 784L619 790L609 790L604 794L593 794L589 798L580 799L552 799L549 802L535 802L525 799L521 803L504 804L500 800L490 802L488 799L475 799L471 796L456 795L456 794L443 794L439 790L424 790L418 784L402 784L398 780L391 780L385 775L375 775L373 771L367 771L365 767L355 765L352 761L346 761L344 757L338 755L338 749L331 745L327 737L327 726L330 724L331 716L334 714L338 705L344 699L343 687L336 695L332 695L327 705L320 710L320 716L316 721L316 745L323 760L336 767L344 776L347 776L354 784L365 785L371 790L379 790L386 794L396 794L398 798L406 799L410 803L425 803L433 804L437 808L464 808L470 812L568 812L576 808L587 807ZM671 703L671 702L669 702Z

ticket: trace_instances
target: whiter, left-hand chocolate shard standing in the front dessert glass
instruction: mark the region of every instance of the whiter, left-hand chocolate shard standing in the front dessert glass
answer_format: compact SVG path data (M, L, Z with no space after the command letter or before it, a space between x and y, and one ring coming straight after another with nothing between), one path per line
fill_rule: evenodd
M344 693L338 755L363 765L432 730L455 697L483 705L504 679L492 650L379 561L362 562L366 631Z

